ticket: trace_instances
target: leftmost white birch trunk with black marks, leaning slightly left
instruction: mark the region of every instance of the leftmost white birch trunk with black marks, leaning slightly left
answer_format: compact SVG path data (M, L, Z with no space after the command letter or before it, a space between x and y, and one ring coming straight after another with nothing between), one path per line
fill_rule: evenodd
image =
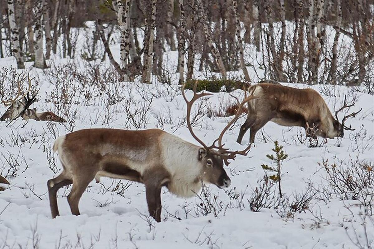
M14 2L13 0L7 0L8 3L8 20L9 20L9 27L10 27L10 36L11 40L10 43L12 44L12 52L13 55L16 57L17 60L17 67L18 69L25 68L24 59L21 51L21 46L19 44L19 29L18 25L16 24L16 18L14 13Z

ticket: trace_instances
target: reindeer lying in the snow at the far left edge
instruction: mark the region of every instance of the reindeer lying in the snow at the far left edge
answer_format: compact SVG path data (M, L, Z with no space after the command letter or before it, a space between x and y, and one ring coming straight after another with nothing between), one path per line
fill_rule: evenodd
M9 106L9 108L0 117L0 121L4 121L5 119L14 120L16 118L22 117L25 120L35 119L37 121L66 122L65 119L57 116L53 112L37 113L35 108L34 109L28 109L36 101L36 96L34 96L32 98L30 98L30 96L29 96L32 79L30 80L29 76L27 75L28 90L22 97L19 97L21 95L21 88L19 86L19 83L21 83L22 81L24 81L26 79L26 78L23 78L23 79L19 80L20 76L21 75L18 75L18 79L17 79L18 93L13 100L3 102L4 105Z

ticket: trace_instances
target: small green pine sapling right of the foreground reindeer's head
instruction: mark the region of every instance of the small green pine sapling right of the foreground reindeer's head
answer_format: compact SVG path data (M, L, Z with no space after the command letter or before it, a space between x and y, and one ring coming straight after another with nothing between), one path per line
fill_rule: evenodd
M281 176L282 176L282 162L285 160L288 155L283 151L283 146L279 145L278 141L274 141L275 148L272 149L275 152L275 155L266 155L267 158L276 161L276 167L269 166L267 164L262 164L261 167L267 171L275 172L274 175L270 175L270 180L278 182L279 196L282 197L281 190Z

